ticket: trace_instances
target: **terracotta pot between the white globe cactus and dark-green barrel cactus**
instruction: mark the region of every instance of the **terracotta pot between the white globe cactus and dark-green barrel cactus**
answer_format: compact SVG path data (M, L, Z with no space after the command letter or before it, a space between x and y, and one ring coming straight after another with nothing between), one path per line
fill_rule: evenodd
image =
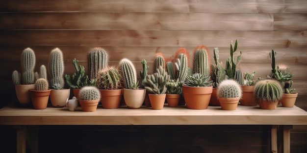
M240 104L243 106L256 106L255 86L241 86L242 87L242 98Z

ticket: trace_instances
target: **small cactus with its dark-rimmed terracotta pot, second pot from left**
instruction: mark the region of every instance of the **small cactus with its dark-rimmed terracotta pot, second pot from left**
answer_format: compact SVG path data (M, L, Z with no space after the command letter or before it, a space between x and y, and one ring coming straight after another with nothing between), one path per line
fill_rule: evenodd
M46 109L51 89L48 88L48 81L39 78L35 81L34 89L29 89L34 109Z

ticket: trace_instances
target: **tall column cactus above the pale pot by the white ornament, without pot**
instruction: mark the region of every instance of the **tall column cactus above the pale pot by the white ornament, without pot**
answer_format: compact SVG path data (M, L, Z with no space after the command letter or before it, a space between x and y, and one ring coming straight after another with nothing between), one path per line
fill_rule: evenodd
M59 48L51 50L49 60L49 72L51 75L51 87L53 89L62 89L64 82L64 59L63 53Z

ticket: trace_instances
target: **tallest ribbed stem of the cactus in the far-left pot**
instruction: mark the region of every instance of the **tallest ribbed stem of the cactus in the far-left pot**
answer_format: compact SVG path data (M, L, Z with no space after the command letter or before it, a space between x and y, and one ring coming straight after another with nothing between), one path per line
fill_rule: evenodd
M26 48L22 55L21 55L21 65L23 69L23 84L30 85L34 84L35 74L34 74L34 67L35 67L35 54L31 48Z

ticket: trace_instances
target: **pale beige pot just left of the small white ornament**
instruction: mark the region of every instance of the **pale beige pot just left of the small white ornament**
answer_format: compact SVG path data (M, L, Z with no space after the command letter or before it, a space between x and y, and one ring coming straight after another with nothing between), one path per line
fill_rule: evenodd
M66 106L70 96L70 88L68 89L51 89L50 101L53 107L62 108Z

